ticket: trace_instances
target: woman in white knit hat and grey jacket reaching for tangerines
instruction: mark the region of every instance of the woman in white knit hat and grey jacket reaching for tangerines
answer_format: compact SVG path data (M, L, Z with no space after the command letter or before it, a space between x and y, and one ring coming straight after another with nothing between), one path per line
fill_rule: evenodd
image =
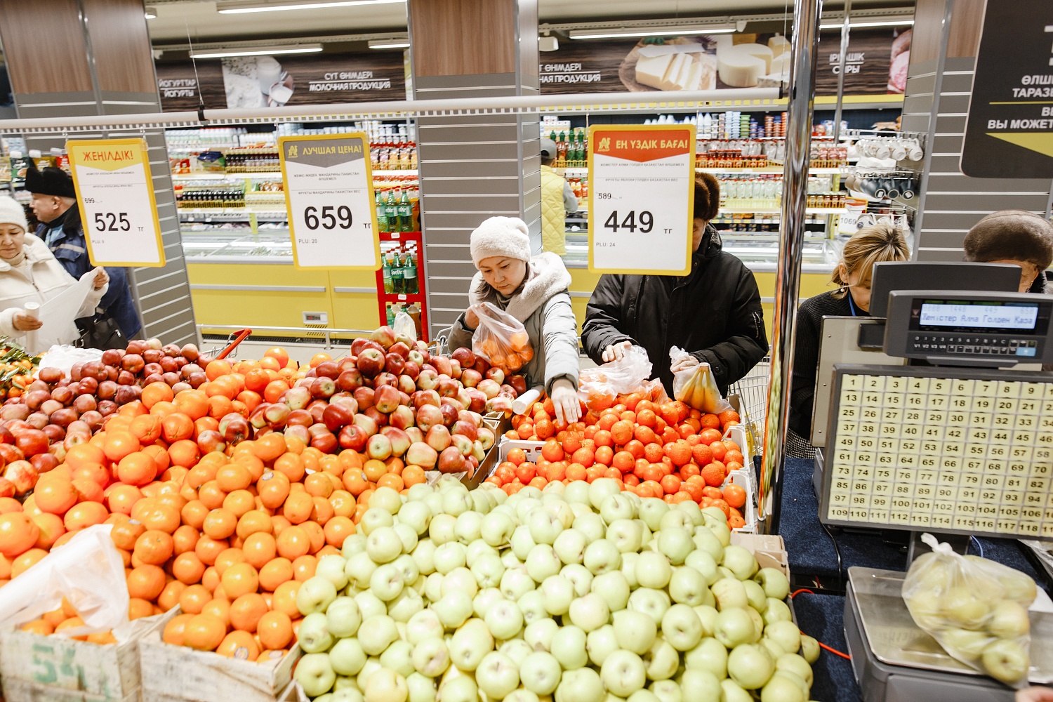
M581 417L578 400L578 323L568 286L571 274L562 259L531 256L526 224L516 217L491 217L472 233L469 300L490 302L522 322L534 358L520 370L531 387L543 387L556 410L556 423ZM454 323L450 347L471 348L478 317L464 312Z

